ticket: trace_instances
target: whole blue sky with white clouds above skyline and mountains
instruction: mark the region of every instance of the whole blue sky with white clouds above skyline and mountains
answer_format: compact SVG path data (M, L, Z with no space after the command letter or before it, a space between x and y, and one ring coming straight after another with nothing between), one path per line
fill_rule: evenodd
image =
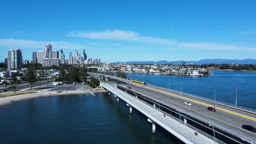
M103 62L256 58L255 1L1 1L0 61L50 43Z

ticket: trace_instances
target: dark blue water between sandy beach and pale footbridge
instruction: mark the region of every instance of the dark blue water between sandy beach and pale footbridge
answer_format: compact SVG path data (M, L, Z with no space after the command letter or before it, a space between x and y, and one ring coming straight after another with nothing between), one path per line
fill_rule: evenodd
M98 93L0 106L0 143L182 143L140 112Z

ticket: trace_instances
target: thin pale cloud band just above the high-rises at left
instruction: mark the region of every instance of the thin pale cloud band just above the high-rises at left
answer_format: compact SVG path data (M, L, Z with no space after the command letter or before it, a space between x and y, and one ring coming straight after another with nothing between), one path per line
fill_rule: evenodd
M7 47L10 49L13 48L33 48L33 49L42 49L45 44L51 44L53 47L65 47L65 49L82 49L85 48L84 45L73 44L67 41L34 41L34 40L24 40L24 39L0 39L0 46Z

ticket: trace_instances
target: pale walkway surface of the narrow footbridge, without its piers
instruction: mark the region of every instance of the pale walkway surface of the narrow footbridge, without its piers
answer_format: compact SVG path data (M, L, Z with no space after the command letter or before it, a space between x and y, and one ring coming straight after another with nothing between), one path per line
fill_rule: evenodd
M120 91L119 89L104 83L101 83L101 86L108 89L110 92L126 101L126 103L128 103L138 111L142 112L152 121L158 123L159 125L161 125L161 127L165 128L167 131L169 131L170 133L172 133L185 143L214 143L213 140L204 135L194 135L193 129L187 127L183 123L174 120L171 117L164 117L164 114L162 112L154 109L153 107L147 104L144 104L142 101L139 101L138 99L131 97L130 95Z

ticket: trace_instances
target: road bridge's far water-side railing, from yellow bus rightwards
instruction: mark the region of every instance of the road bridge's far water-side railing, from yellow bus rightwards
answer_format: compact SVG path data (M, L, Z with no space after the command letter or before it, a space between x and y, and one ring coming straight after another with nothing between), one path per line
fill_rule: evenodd
M168 88L164 88L164 87L159 87L159 86L154 86L154 85L150 85L150 84L147 84L148 86L151 86L151 87L156 87L156 88L159 88L159 89L164 89L165 91L171 91L171 92L175 92L175 93L179 93L179 94L185 94L185 95L188 95L188 96L193 96L193 97L196 97L196 98L200 98L200 99L205 99L205 100L209 100L209 101L214 101L213 99L210 99L210 98L205 98L205 97L201 97L199 95L195 95L195 94L190 94L190 93L185 93L185 92L179 92L179 91L176 91L174 89L168 89ZM240 106L240 105L235 105L235 104L230 104L230 103L225 103L224 101L219 101L219 100L215 100L216 103L220 103L220 104L223 104L223 105L228 105L228 106L232 106L232 107L236 107L238 109L242 109L242 110L246 110L246 111L250 111L250 112L254 112L256 113L256 110L254 109L250 109L248 107L244 107L244 106Z

